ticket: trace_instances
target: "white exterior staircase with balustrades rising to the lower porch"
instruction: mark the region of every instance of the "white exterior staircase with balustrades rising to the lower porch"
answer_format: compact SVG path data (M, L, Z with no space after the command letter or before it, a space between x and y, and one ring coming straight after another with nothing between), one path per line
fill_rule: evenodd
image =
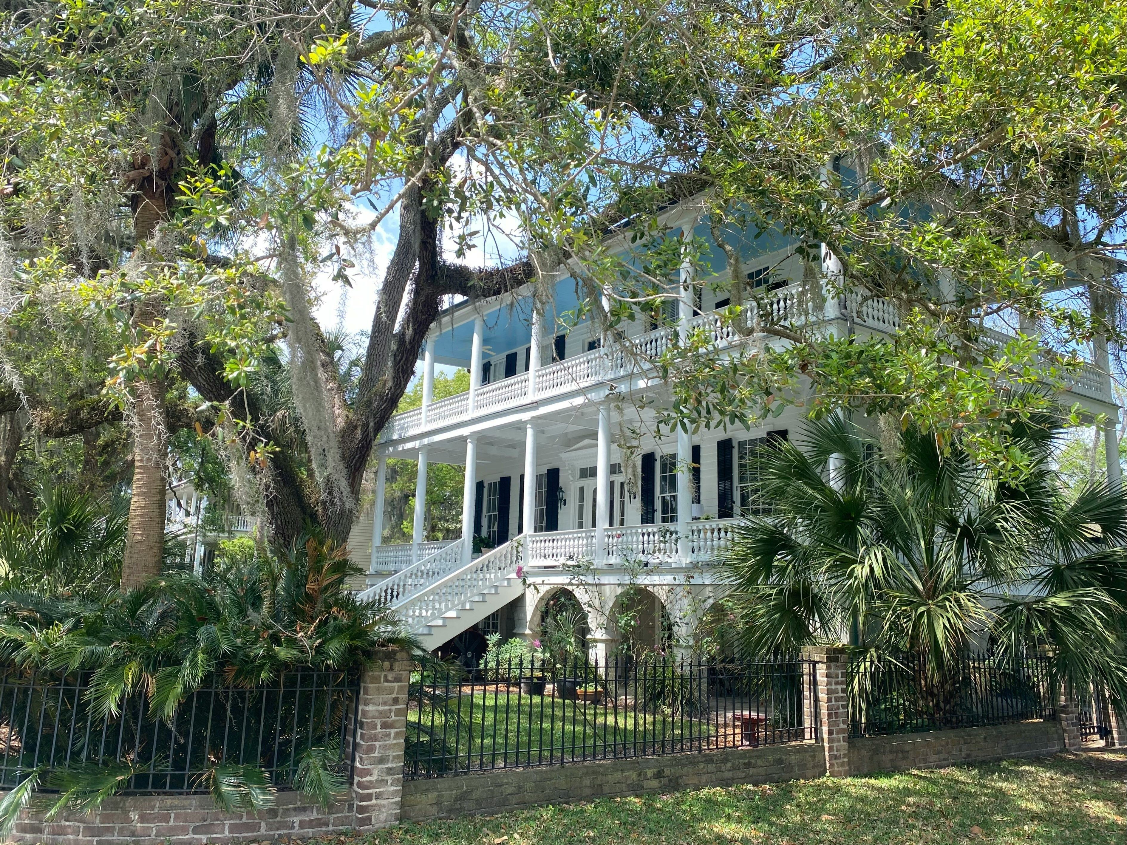
M406 622L427 651L499 611L524 592L517 576L524 535L462 563L452 543L418 563L369 587L362 599L382 599Z

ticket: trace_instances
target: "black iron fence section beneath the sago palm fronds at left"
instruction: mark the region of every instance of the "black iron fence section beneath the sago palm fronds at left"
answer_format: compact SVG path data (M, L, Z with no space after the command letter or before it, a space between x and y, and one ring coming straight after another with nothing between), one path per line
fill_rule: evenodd
M0 677L0 789L39 766L122 765L133 772L125 792L204 792L208 773L224 765L257 766L286 789L311 749L335 757L334 767L350 779L358 686L354 673L314 669L250 688L213 677L166 720L143 695L100 714L90 673L9 669Z

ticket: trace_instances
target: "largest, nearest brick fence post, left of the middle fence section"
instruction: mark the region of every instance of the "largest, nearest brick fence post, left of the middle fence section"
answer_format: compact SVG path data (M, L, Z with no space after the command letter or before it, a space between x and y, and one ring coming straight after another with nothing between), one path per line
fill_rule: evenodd
M399 650L376 652L361 677L353 770L357 830L399 821L410 677L410 656Z

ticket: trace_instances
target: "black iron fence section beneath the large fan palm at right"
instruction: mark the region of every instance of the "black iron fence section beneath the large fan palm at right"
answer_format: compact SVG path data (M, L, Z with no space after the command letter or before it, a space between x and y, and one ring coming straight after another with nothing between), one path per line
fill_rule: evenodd
M1048 662L967 655L939 674L917 656L857 656L849 666L850 736L911 733L1056 718Z

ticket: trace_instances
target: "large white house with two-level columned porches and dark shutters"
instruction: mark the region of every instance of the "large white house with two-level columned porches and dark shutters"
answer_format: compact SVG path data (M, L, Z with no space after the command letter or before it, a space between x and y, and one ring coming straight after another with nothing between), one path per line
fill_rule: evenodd
M674 210L666 226L710 240L698 213ZM800 308L795 246L767 232L740 247L740 272L753 284L762 279L757 293L777 313ZM713 248L707 260L725 272L721 250ZM825 252L823 277L834 272ZM637 631L649 632L655 646L663 629L691 641L724 592L715 561L727 549L734 517L758 506L752 457L801 428L801 411L790 408L751 430L655 439L651 408L669 394L647 359L675 332L695 327L721 347L755 338L739 337L717 318L727 294L706 286L694 302L686 286L667 324L631 324L631 354L623 355L604 346L594 323L559 328L559 315L578 303L574 279L557 277L554 302L542 313L533 310L531 287L446 311L425 347L423 407L397 415L381 437L374 514L382 523L387 459L417 460L415 542L371 546L366 595L389 601L427 648L467 632L534 637L545 604L562 589L586 610L596 657L619 640L614 620L623 601L639 616ZM817 308L816 319L838 335L898 324L895 306L879 299L829 297ZM1108 415L1116 455L1118 407L1100 353L1072 390L1091 412ZM468 367L470 390L432 401L436 363ZM639 412L640 400L649 409ZM624 453L628 427L640 437L631 437ZM434 462L465 466L462 540L423 542L426 466ZM1117 456L1109 466L1118 469ZM380 527L369 524L366 536L379 539ZM474 554L474 535L496 548Z

